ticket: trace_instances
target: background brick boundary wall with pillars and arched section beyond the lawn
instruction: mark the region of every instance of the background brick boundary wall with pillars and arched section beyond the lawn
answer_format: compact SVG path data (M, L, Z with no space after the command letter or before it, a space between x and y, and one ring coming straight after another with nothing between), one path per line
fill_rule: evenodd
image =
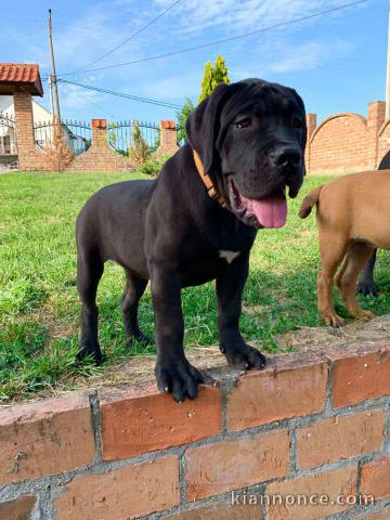
M22 170L46 170L48 164L34 142L31 96L14 94L18 161ZM367 118L358 114L336 114L320 126L316 115L308 114L308 173L349 173L378 167L390 150L390 123L385 123L385 102L369 103ZM173 155L178 150L174 121L160 121L160 145L156 155ZM121 157L107 144L105 119L92 119L92 144L75 157L67 170L123 171L132 169L129 159Z

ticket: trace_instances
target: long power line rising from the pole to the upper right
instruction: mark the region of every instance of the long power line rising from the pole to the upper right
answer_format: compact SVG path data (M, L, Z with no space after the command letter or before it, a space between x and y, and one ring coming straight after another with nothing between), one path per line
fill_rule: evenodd
M184 54L186 52L197 51L199 49L206 49L208 47L217 46L217 44L220 44L220 43L226 43L229 41L235 41L235 40L239 40L242 38L248 38L250 36L259 35L261 32L266 32L269 30L277 29L277 28L281 28L281 27L286 27L288 25L297 24L299 22L304 22L307 20L315 18L315 17L318 17L318 16L324 16L326 14L330 14L330 13L334 13L336 11L341 11L342 9L351 8L353 5L359 5L361 3L366 3L366 2L367 2L367 0L356 0L354 2L344 3L344 4L339 5L337 8L327 9L327 10L321 11L318 13L308 14L307 16L301 16L299 18L294 18L294 20L290 20L288 22L282 22L280 24L270 25L269 27L263 27L261 29L252 30L250 32L244 32L244 34L237 35L237 36L231 36L229 38L223 38L221 40L209 41L209 42L203 43L200 46L187 47L186 49L181 49L179 51L172 51L172 52L167 52L165 54L157 54L157 55L154 55L154 56L143 57L143 58L140 58L140 60L134 60L132 62L117 63L115 65L106 65L104 67L90 68L90 69L87 69L87 70L83 70L83 73L95 73L98 70L105 70L107 68L123 67L126 65L134 65L134 64L138 64L138 63L151 62L153 60L160 60L162 57L176 56L178 54ZM72 74L75 74L75 73L65 73L65 74L61 74L58 76L63 77L63 76L69 76Z

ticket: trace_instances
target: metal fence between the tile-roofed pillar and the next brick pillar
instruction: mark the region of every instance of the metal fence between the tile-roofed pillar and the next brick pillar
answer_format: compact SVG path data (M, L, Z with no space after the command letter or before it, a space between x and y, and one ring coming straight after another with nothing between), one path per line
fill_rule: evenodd
M86 152L92 142L92 128L90 122L64 119L61 121L63 139L75 155ZM34 136L36 144L44 150L50 146L54 139L53 120L34 123Z

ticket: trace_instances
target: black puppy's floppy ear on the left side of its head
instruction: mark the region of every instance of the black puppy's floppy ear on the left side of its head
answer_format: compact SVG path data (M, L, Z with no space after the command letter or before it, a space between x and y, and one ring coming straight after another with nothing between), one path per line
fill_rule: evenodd
M233 86L219 84L195 110L185 125L187 142L202 159L205 172L210 172L216 160L216 141L220 130L220 113L227 92Z

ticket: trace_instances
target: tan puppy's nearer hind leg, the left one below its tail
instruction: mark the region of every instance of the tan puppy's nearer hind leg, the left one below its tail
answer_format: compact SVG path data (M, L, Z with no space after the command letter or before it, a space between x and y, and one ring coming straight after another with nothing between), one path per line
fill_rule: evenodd
M317 298L321 318L326 325L341 327L344 320L333 306L333 286L337 266L346 255L347 244L342 236L322 233L320 231L320 250L322 269L317 277Z

